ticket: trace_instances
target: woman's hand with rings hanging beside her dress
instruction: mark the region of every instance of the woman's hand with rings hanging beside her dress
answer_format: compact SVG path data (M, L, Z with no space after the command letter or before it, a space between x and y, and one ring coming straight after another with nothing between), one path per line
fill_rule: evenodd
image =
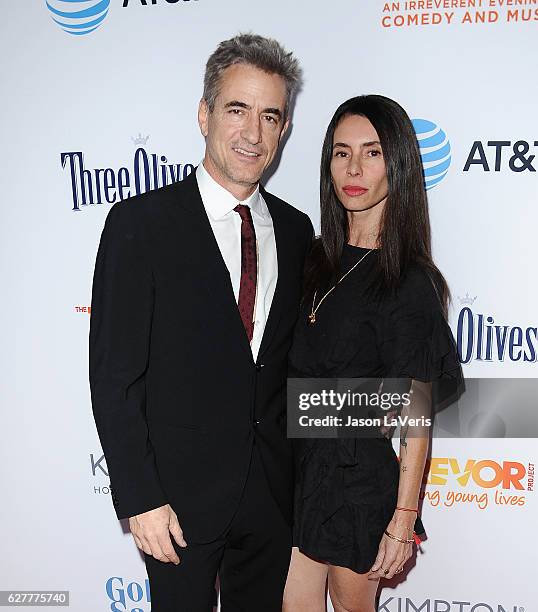
M415 519L414 512L396 510L387 526L387 531L400 540L412 540ZM368 573L368 579L392 578L403 570L405 562L412 554L413 543L398 542L383 534L375 563Z

